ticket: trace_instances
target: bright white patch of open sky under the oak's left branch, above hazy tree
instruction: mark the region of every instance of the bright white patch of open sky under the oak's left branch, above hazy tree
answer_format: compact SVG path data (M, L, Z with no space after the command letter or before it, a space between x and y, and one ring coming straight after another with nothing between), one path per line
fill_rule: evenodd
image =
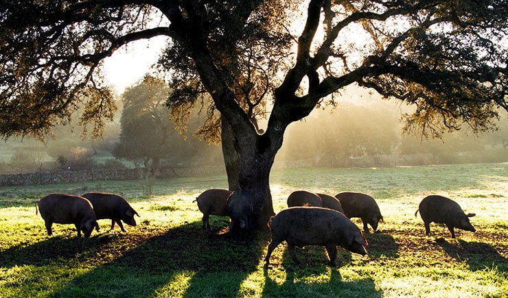
M117 94L122 94L125 88L150 71L150 67L159 59L165 40L165 37L137 40L120 47L104 60L106 81Z

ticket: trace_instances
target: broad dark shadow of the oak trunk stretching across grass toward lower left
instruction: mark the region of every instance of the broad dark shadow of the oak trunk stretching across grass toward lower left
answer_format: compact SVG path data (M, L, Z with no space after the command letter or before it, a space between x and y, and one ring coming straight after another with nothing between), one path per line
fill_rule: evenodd
M124 234L123 236L128 236ZM243 280L257 269L262 242L252 238L234 239L201 229L198 222L173 227L139 239L136 246L115 253L122 239L111 239L103 247L115 256L55 289L52 297L76 293L106 297L146 297L168 291L172 281L187 275L182 296L235 296ZM111 247L108 247L111 245ZM126 241L124 246L130 245ZM120 244L120 249L122 249ZM94 249L92 249L94 250ZM95 253L104 253L95 249ZM93 255L93 253L89 253ZM126 285L128 281L128 285ZM227 293L224 291L231 291ZM165 292L168 293L168 292Z

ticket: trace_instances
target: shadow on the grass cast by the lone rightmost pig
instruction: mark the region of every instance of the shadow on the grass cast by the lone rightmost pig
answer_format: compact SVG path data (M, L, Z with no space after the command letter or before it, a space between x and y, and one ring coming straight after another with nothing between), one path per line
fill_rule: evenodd
M467 242L461 239L452 240L452 242L443 239L436 243L450 257L459 262L466 262L472 271L492 268L492 266L498 266L503 271L508 270L508 259L487 243Z

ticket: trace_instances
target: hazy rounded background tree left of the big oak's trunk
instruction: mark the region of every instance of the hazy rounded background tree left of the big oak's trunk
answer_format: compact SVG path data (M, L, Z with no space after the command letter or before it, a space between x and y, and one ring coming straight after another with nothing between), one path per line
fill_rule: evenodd
M146 177L154 177L160 166L175 166L196 162L206 164L216 159L213 149L189 134L203 132L205 126L198 125L203 117L198 111L189 109L189 121L179 123L178 131L170 119L170 112L165 101L171 90L163 79L145 75L139 84L127 88L122 95L122 132L119 142L113 149L113 156L141 165L146 170ZM172 111L176 113L177 111Z

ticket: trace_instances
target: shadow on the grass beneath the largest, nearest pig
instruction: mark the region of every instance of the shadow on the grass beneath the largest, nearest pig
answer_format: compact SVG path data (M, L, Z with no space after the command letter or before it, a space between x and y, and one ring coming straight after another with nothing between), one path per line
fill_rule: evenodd
M270 277L270 269L264 266L263 297L382 297L370 278L343 282L338 268L330 266L299 266L285 271L282 284ZM305 282L309 277L319 282ZM322 282L321 282L322 281Z

